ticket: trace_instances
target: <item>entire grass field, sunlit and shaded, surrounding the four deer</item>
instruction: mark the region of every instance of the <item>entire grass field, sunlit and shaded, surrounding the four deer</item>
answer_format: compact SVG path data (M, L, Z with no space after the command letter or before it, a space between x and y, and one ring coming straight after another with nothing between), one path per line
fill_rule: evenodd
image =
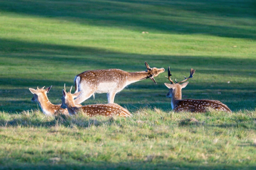
M0 169L255 169L255 47L253 0L0 0ZM145 61L177 80L196 69L182 97L233 113L173 113L167 72L116 95L128 119L46 117L31 102L28 88L53 85L59 104L77 74Z

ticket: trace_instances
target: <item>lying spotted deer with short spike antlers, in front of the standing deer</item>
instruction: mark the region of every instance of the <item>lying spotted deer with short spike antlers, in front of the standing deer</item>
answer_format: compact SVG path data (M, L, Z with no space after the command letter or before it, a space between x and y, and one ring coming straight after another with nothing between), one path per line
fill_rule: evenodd
M77 105L74 102L74 98L78 97L81 94L80 92L71 94L72 86L69 92L66 92L65 85L64 90L62 90L63 96L61 98L62 104L61 108L67 108L70 115L74 115L77 113L79 109L82 109L83 112L85 112L88 116L121 116L121 117L130 117L130 112L119 106L115 103L110 104L97 104L97 105L86 105L77 107Z

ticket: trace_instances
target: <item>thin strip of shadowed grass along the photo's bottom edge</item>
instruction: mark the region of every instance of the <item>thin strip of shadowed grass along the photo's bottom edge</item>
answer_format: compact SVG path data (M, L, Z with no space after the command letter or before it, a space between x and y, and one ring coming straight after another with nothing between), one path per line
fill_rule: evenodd
M130 170L130 169L211 169L211 170L232 170L232 169L255 169L256 166L253 165L237 165L237 164L225 164L218 163L214 165L198 165L197 163L186 163L183 161L157 161L156 159L151 162L143 162L143 161L129 161L129 162L119 162L119 163L109 163L109 162L90 162L90 163L61 163L61 161L52 161L52 163L43 163L43 164L28 164L28 163L17 163L15 160L11 158L0 159L0 162L5 162L5 165L2 166L1 169L20 169L20 170L29 170L29 169L118 169L118 170ZM9 165L8 165L9 163ZM12 165L11 165L12 164Z

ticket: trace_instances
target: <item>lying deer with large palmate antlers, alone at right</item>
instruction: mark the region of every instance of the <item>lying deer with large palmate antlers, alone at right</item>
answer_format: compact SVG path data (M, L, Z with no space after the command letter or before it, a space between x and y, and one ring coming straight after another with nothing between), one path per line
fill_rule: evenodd
M166 87L169 88L169 92L166 95L168 98L172 98L172 109L175 112L180 112L180 111L190 111L190 112L205 112L207 107L212 107L213 109L217 111L227 111L231 112L228 106L224 105L218 100L194 100L194 99L185 99L181 100L181 89L185 88L188 84L188 82L183 83L187 81L189 78L193 78L193 74L195 73L196 70L193 68L190 69L190 76L188 78L185 78L185 80L177 82L175 79L174 83L171 80L171 72L170 72L170 67L168 68L168 78L171 84L164 83ZM183 84L179 84L183 83Z

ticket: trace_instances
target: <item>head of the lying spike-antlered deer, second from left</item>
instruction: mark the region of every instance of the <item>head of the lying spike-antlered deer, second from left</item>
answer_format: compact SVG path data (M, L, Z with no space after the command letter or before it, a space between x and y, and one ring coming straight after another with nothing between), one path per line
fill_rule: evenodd
M65 84L64 84L64 89L62 90L63 96L61 98L62 103L61 103L61 106L60 106L63 109L65 109L69 106L75 106L74 98L78 97L82 92L82 91L80 91L80 92L71 94L72 87L73 86L71 86L69 92L66 92L66 88L65 88Z

